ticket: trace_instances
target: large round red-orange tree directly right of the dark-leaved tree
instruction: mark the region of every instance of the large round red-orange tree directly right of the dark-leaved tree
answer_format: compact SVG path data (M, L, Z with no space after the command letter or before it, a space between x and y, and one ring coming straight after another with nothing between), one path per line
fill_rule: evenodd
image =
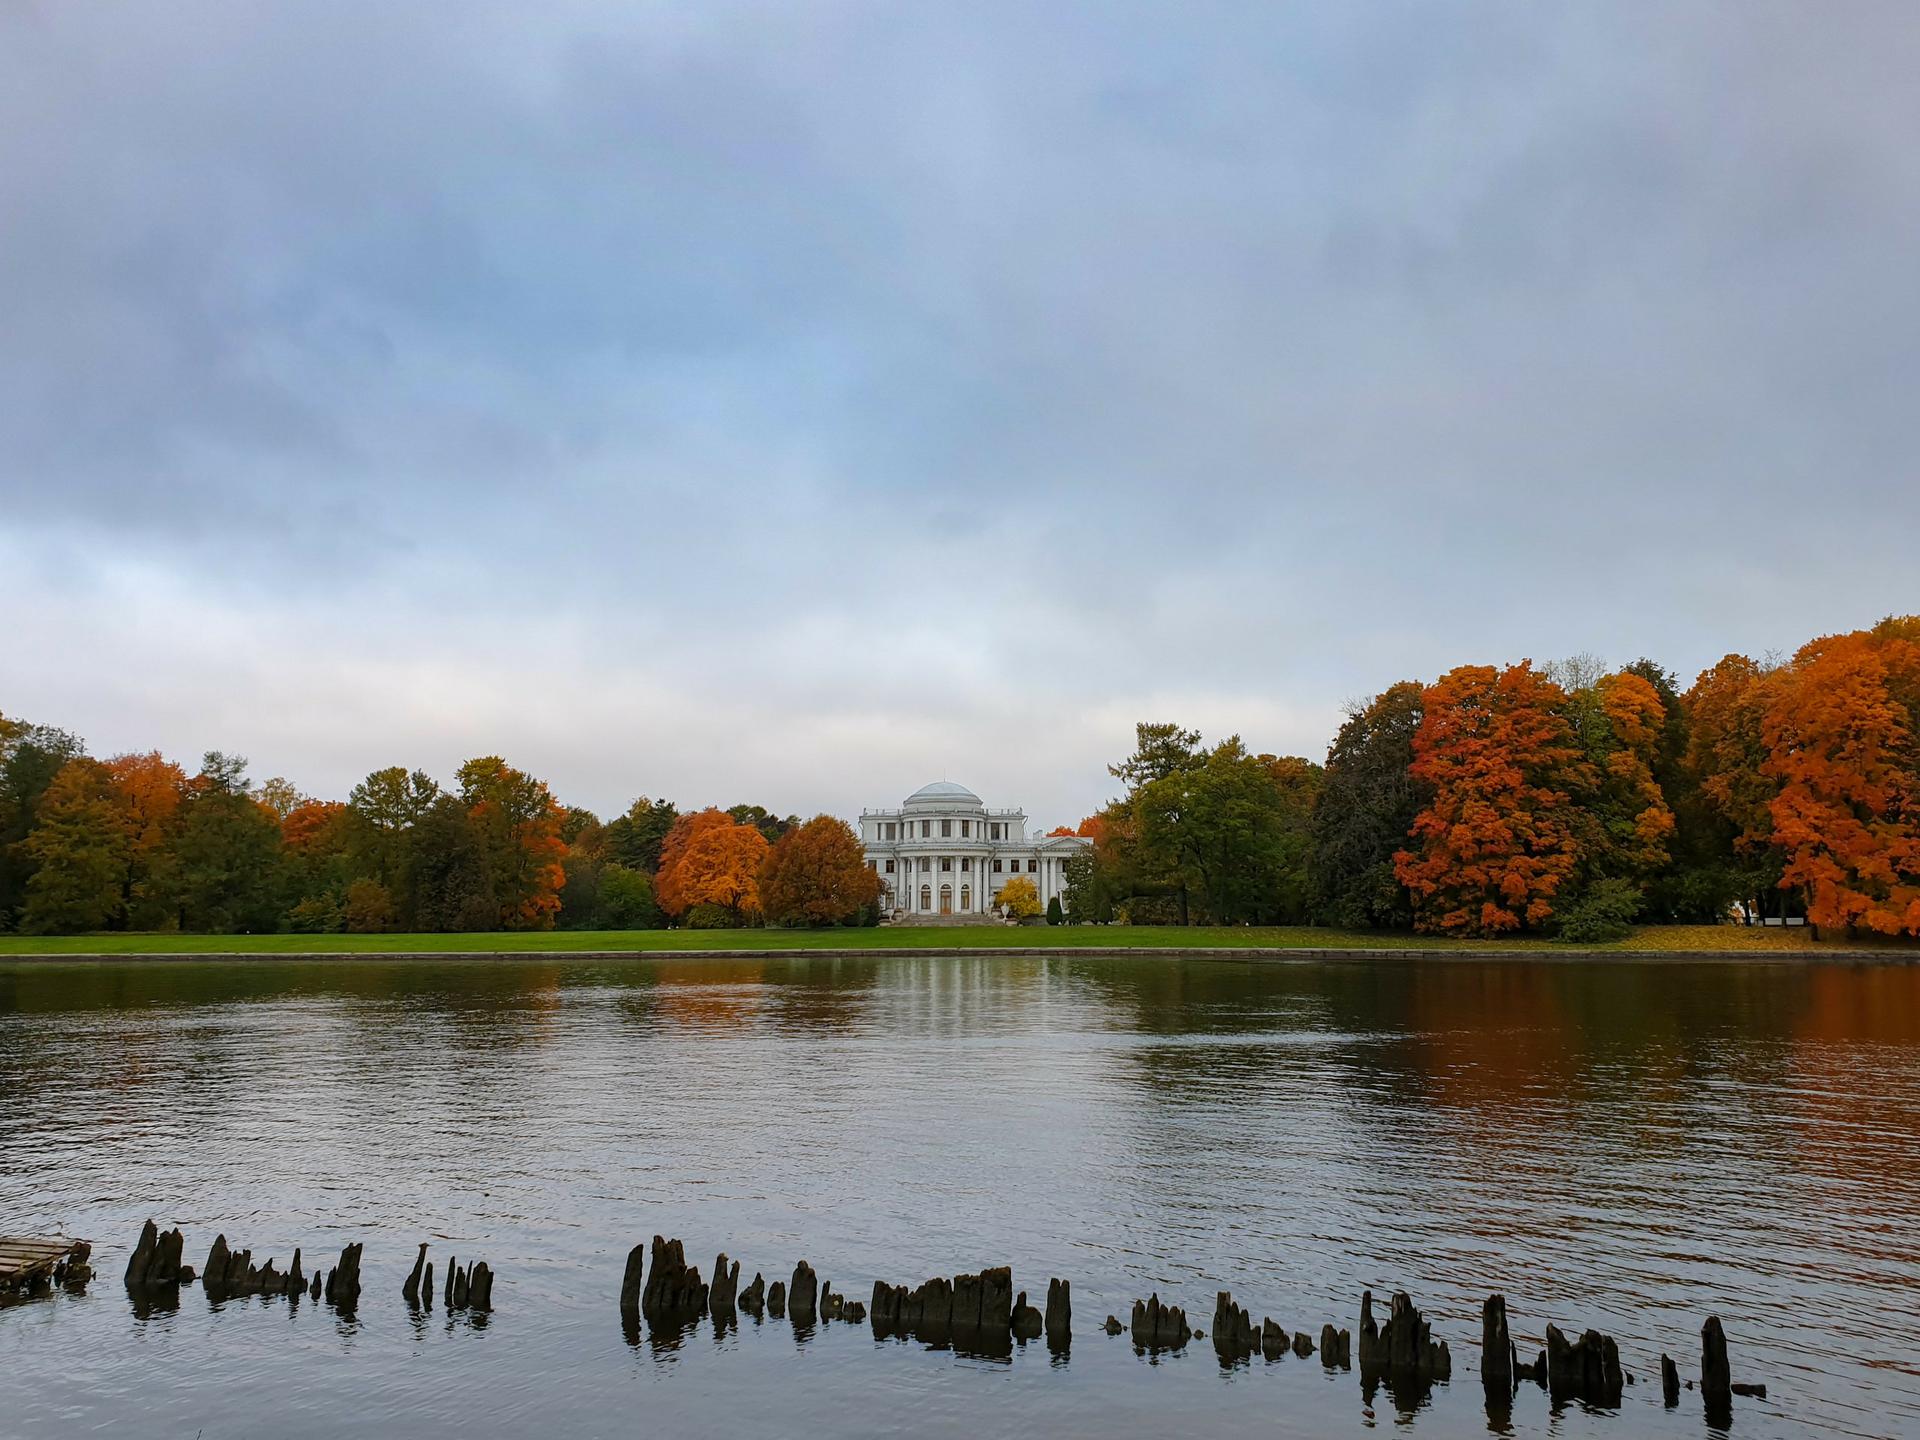
M1532 668L1467 664L1427 687L1415 780L1432 799L1394 874L1427 931L1540 927L1580 858L1572 797L1592 768L1563 714L1565 691Z

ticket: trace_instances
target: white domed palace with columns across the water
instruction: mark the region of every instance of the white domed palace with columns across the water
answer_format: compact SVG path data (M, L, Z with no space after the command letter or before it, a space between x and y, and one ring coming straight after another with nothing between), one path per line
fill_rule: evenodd
M1079 835L1027 839L1025 810L989 810L966 785L937 780L899 810L862 810L866 862L900 916L983 916L1014 876L1033 881L1041 908L1066 904L1066 864L1092 845Z

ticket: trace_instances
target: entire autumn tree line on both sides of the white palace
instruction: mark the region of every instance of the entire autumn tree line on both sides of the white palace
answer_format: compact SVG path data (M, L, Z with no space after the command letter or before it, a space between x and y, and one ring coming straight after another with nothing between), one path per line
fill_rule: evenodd
M1175 724L1135 741L1110 766L1123 795L1079 826L1066 918L1920 935L1920 616L1728 655L1684 691L1644 659L1467 664L1352 707L1325 762ZM603 824L499 756L317 801L219 751L196 774L102 760L0 714L4 929L841 925L881 902L831 816L641 797Z

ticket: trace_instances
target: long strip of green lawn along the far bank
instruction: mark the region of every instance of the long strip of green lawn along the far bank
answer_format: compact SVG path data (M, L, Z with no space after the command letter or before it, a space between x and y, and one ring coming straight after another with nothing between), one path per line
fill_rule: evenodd
M1647 925L1609 950L1822 950L1866 948L1862 941L1814 943L1805 929L1743 925ZM925 925L879 929L628 929L486 935L0 935L0 956L25 954L371 954L488 950L970 950L996 947L1098 947L1139 950L1327 948L1327 950L1555 950L1540 939L1446 941L1388 931L1267 929L1229 925ZM1920 947L1872 945L1920 952Z

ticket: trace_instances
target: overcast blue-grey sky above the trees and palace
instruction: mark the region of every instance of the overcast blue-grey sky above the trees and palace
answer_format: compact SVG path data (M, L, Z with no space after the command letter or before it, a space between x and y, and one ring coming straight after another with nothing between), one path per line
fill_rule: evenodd
M0 0L0 710L1050 826L1139 718L1914 611L1916 75L1905 0Z

